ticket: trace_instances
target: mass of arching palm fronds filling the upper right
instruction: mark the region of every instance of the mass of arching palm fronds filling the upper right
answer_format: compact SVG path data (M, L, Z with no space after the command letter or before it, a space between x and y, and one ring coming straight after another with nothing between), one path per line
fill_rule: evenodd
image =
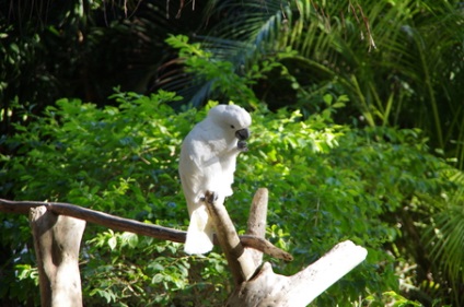
M369 126L418 127L463 168L460 1L212 3L221 20L201 37L211 62L229 61L228 71L240 75L276 57L281 64L253 87L271 109L315 113L326 93L348 95L338 120L351 123L355 116ZM194 82L206 82L196 73ZM211 97L206 90L192 96Z

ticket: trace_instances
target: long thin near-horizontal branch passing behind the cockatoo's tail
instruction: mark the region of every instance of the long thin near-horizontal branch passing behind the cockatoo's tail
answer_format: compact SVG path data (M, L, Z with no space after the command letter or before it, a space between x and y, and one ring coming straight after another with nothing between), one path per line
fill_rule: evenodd
M147 224L135 220L124 219L82 208L79 205L62 202L40 202L40 201L11 201L0 199L0 212L28 214L31 208L45 206L55 214L68 215L106 226L114 231L130 232L139 235L150 236L158 239L185 243L187 233L178 229L167 228L159 225ZM240 240L246 247L255 248L274 258L291 260L291 256L274 246L264 238L254 236L241 236Z

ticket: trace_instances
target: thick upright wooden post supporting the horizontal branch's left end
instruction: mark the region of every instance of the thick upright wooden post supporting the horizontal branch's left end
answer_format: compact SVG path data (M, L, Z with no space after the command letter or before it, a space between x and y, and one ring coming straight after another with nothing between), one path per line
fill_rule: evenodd
M82 307L79 247L85 221L31 208L30 223L38 263L40 305Z

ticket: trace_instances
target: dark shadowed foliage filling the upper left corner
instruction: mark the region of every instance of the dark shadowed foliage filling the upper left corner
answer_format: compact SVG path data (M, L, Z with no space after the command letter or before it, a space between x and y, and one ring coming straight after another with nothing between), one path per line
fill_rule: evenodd
M178 3L171 3L171 11ZM166 19L165 2L48 0L0 2L0 133L21 118L4 116L18 101L38 115L61 97L108 104L113 87L146 92L169 56L167 33L190 31ZM188 19L188 16L190 19ZM169 32L167 32L169 29Z

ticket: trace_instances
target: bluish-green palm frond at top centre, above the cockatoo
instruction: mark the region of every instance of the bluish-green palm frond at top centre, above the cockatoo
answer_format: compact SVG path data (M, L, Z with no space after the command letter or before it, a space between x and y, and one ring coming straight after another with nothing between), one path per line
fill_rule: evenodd
M241 74L274 47L271 42L277 39L283 19L281 8L280 1L213 2L208 8L209 14L224 17L208 31L208 35L196 35L195 39L201 43L204 50L212 54L212 61L229 61ZM209 98L221 96L219 91L214 91L214 80L205 80L200 74L187 76L185 72L182 75L171 78L176 81L185 79L183 87L177 88L185 98L184 103L200 106ZM166 88L174 88L167 80L160 80L160 83L165 83Z

